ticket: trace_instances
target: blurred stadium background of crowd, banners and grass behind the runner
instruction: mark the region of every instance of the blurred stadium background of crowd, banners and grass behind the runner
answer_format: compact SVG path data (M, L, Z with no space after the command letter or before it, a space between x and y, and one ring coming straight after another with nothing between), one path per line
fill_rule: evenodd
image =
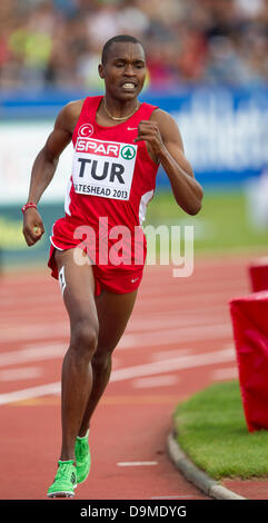
M188 217L160 170L147 224L195 225L195 251L267 251L268 0L1 0L0 251L3 269L44 263L63 216L71 146L42 197L46 236L29 249L20 207L31 165L63 105L102 92L98 63L115 34L147 52L141 101L177 120L205 188Z

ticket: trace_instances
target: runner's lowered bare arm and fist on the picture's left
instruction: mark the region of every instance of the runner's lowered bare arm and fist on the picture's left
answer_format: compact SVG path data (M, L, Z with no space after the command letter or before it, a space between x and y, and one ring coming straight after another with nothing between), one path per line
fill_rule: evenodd
M79 102L70 102L59 112L52 132L33 162L27 201L38 204L52 180L59 157L71 141L72 131L79 117L78 106ZM27 245L34 245L43 233L44 228L40 214L34 207L29 207L23 215L23 235Z

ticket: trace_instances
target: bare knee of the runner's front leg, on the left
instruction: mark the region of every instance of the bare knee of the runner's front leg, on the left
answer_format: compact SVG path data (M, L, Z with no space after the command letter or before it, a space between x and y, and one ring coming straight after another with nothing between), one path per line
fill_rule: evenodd
M91 359L98 345L98 325L89 318L79 319L71 328L70 348L81 356Z

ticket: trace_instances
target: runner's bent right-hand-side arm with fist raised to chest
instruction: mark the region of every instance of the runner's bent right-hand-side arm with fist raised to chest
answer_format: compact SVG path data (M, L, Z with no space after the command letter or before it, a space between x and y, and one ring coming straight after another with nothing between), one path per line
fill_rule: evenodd
M138 138L146 140L170 180L177 204L189 215L201 209L202 188L196 180L190 162L187 160L177 122L166 111L152 112L150 120L141 120Z

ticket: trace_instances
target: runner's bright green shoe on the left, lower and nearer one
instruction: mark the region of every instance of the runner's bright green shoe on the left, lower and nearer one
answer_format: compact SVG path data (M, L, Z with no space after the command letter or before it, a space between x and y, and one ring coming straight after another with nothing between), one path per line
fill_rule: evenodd
M48 490L49 497L73 497L77 486L77 468L73 460L59 461L59 468L52 485Z

